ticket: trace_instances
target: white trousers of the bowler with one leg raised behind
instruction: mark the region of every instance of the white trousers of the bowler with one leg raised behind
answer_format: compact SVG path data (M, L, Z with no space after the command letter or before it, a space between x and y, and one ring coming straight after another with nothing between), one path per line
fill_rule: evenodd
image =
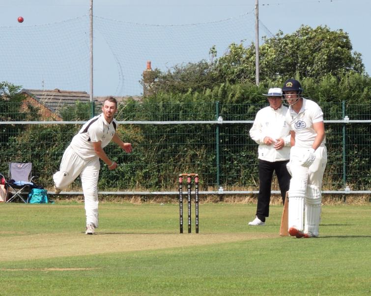
M98 227L98 177L100 163L97 156L93 160L84 160L68 146L63 153L59 172L53 175L56 187L63 190L79 175L83 186L86 223Z

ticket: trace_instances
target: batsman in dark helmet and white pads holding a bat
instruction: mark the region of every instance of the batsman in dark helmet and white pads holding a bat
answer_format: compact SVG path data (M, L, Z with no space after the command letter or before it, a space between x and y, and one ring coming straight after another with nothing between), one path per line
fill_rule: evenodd
M291 134L287 164L292 176L288 191L288 233L296 238L318 237L322 178L327 163L323 112L317 103L302 97L299 81L286 80L282 91L289 106L286 123Z

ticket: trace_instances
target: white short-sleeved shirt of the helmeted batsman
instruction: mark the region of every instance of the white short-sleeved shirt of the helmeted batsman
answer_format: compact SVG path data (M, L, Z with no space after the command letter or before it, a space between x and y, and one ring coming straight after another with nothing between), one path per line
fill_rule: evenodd
M313 123L322 121L322 109L312 100L303 98L303 106L299 113L296 113L290 106L286 114L286 122L295 132L295 147L311 148L317 135ZM325 143L326 138L323 139L320 147L324 147Z

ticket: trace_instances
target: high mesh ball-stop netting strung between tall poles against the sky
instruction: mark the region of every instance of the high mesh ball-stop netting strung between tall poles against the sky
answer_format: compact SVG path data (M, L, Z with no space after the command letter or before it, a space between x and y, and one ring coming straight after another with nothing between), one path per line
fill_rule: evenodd
M231 43L249 46L255 40L255 15L189 25L134 24L94 16L93 36L94 95L141 95L148 60L153 69L167 71L210 61L212 47L220 57ZM89 38L89 15L55 24L0 27L0 80L27 89L89 92Z

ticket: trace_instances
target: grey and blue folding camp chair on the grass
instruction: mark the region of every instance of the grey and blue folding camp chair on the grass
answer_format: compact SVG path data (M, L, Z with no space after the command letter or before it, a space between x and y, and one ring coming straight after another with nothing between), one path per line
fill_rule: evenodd
M9 163L9 179L5 180L5 186L8 194L12 196L6 200L6 202L13 201L16 197L19 197L24 203L29 202L29 186L33 185L32 181L37 178L36 176L31 177L32 163ZM27 198L22 195L27 194Z

